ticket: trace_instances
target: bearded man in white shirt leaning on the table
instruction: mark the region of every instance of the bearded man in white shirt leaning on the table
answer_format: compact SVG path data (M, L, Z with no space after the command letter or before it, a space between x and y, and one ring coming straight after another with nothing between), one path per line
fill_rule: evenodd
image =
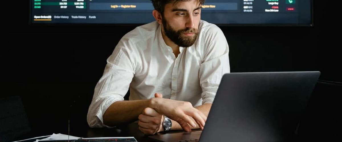
M230 71L226 38L200 20L204 0L152 3L156 21L124 35L107 59L89 107L90 127L139 120L139 129L152 135L205 126L221 78Z

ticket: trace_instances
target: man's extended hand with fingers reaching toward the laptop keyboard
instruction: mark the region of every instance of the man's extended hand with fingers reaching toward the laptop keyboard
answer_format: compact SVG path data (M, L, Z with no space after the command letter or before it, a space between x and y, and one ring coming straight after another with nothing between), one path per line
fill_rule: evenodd
M155 96L162 96L156 93ZM176 121L184 130L191 130L190 126L196 127L196 123L203 130L207 116L201 111L194 108L190 102L171 100L162 97L155 97L153 99L153 108L159 113L168 116L170 119ZM194 122L192 117L196 122ZM188 125L189 124L189 125Z

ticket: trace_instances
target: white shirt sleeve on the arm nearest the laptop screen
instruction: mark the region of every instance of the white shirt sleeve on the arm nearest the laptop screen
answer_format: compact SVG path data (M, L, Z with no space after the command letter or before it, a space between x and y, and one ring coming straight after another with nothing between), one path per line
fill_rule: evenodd
M202 104L214 101L222 76L230 73L229 47L223 32L219 27L211 26L206 36L203 63L199 70Z

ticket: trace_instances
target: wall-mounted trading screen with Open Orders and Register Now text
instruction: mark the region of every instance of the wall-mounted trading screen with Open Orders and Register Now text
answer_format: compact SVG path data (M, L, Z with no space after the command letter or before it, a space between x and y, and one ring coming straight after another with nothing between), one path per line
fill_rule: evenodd
M31 0L30 22L143 24L155 21L150 0ZM223 25L312 24L311 0L206 0L201 19Z

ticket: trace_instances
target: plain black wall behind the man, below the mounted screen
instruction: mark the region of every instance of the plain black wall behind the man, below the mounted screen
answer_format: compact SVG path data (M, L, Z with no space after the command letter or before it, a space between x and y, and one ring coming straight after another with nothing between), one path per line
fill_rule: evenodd
M28 5L20 6L21 18L5 28L1 97L19 95L33 129L67 129L69 115L87 125L106 59L135 26L29 26ZM220 27L231 72L318 70L321 80L342 82L333 18L328 3L316 2L314 27Z

